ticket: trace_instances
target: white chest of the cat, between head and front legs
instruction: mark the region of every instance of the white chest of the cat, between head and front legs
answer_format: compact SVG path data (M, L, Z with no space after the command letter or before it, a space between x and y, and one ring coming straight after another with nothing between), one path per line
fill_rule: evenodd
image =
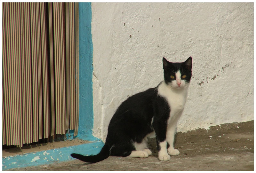
M169 120L179 119L187 100L187 93L186 88L171 90L164 82L159 85L158 94L166 99L171 109Z

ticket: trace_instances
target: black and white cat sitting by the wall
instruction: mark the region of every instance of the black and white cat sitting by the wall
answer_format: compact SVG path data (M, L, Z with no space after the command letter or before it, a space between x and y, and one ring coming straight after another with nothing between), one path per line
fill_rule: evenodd
M98 162L112 156L146 158L148 137L156 135L158 159L170 160L179 155L173 147L177 122L187 100L192 76L192 58L173 63L163 58L164 81L155 88L137 93L125 100L116 110L108 126L106 143L100 153L71 156L86 162Z

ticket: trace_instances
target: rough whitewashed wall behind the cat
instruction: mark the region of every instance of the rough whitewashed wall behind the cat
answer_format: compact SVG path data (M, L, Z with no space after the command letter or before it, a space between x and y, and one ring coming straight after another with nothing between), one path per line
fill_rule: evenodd
M131 36L130 36L131 35ZM177 131L253 120L253 3L92 3L94 136L127 97L193 58Z

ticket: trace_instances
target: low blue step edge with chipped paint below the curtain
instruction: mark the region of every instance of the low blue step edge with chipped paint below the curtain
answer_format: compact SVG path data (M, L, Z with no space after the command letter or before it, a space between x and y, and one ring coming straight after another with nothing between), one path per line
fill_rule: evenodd
M2 170L51 164L60 161L69 161L74 159L70 156L71 153L95 155L100 152L103 145L104 143L102 141L94 141L88 144L68 146L52 150L39 151L35 153L26 153L22 155L3 157Z

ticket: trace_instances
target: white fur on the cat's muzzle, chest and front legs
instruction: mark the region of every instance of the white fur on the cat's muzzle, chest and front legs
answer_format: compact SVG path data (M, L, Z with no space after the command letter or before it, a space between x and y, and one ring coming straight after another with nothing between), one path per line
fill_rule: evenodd
M180 83L180 86L178 85ZM170 117L168 119L167 132L166 132L166 140L161 142L160 151L158 153L159 160L169 160L166 157L166 154L169 155L179 155L180 152L173 147L174 134L176 131L177 122L182 114L185 103L187 101L188 94L188 85L184 80L181 80L180 71L176 72L176 80L172 81L172 83L166 84L164 81L158 87L158 94L166 99L168 102L171 112ZM166 142L169 143L170 147L166 151ZM165 149L162 147L164 147ZM167 154L167 155L168 155Z

